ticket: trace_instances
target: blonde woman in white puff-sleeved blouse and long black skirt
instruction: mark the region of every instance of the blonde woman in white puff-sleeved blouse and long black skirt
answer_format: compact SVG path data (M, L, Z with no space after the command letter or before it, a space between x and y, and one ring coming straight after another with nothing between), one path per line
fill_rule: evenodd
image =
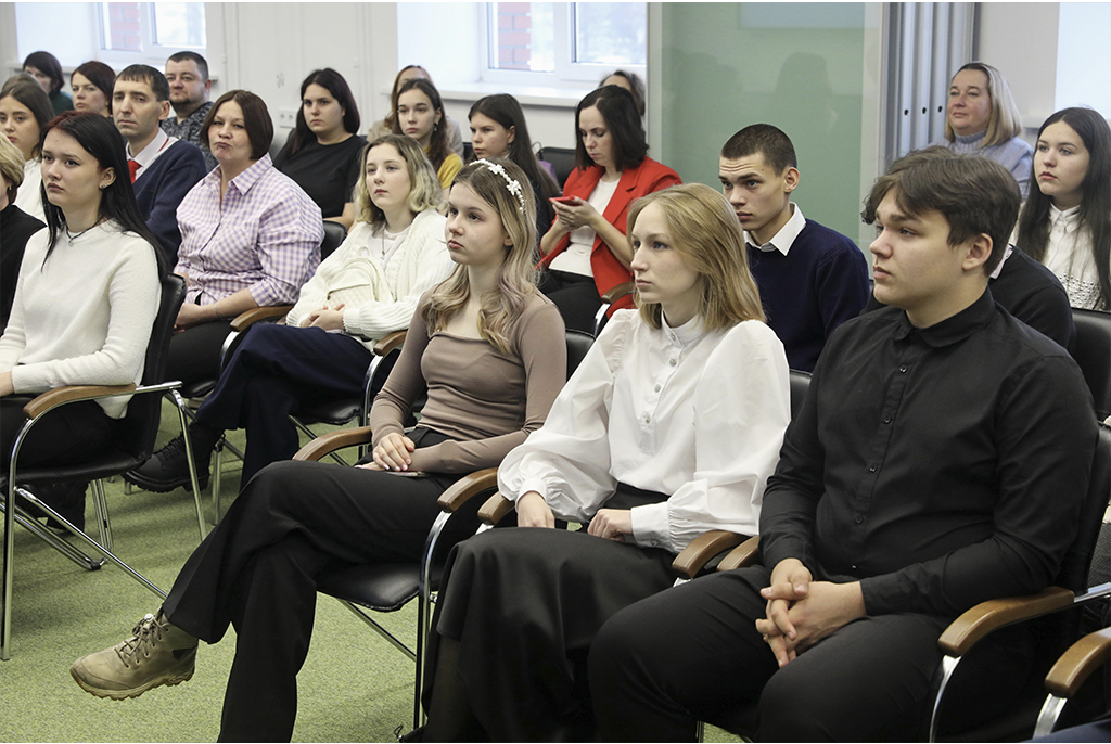
M574 660L598 629L670 586L705 530L757 532L789 383L737 217L709 187L677 185L637 201L629 228L639 311L613 315L499 469L519 529L448 560L424 741L591 741ZM589 527L546 529L557 519Z

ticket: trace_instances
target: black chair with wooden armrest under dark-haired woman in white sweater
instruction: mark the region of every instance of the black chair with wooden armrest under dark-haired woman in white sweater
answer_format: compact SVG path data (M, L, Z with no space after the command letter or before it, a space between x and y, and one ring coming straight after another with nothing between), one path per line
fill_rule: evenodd
M186 431L186 402L178 393L179 382L166 382L164 368L166 356L170 346L170 336L173 332L173 322L178 315L178 309L186 295L186 283L176 274L168 274L162 278L162 296L158 315L151 331L150 341L147 345L146 366L140 385L73 385L58 388L34 398L24 408L27 422L20 430L12 445L11 464L7 474L0 474L0 489L3 490L4 500L2 510L4 513L4 536L3 536L3 617L0 620L0 660L7 661L10 657L11 644L11 605L12 605L12 571L14 559L14 525L19 523L36 536L43 540L52 547L62 553L78 565L92 571L99 569L104 561L109 561L122 569L131 579L136 580L148 590L166 597L166 593L158 586L149 582L141 574L134 571L127 563L121 561L112 552L112 532L108 515L108 502L104 499L103 484L101 479L109 475L118 475L133 467L138 467L146 462L154 449L154 440L158 436L159 419L161 416L161 394L171 396L178 410L179 423ZM158 394L148 394L158 393ZM58 463L49 466L21 467L19 465L19 452L28 433L36 423L42 420L53 409L74 403L78 401L98 400L120 395L130 395L127 414L120 419L116 428L110 449L102 455L81 463ZM187 451L189 438L186 436ZM190 463L192 459L190 458ZM196 482L196 473L191 473ZM83 530L79 530L71 522L41 502L34 496L33 486L37 483L52 482L92 482L93 505L97 512L97 526L99 530L99 541L91 537ZM64 525L67 531L77 537L86 546L102 555L102 559L91 559L80 550L53 535L39 524L22 506L16 501L19 494L31 504L38 506L42 512ZM194 491L194 505L197 509L197 523L203 540L207 529L204 523L203 509L200 496Z

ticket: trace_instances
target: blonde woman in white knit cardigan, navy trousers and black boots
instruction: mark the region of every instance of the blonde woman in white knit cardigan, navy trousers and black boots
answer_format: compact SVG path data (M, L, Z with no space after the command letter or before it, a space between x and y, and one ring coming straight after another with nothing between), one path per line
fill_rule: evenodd
M247 429L242 483L293 456L299 403L362 393L374 341L409 325L417 301L454 264L443 239L440 187L416 140L390 134L362 152L357 222L301 288L284 325L257 325L237 349L190 426L201 485L227 429ZM150 491L189 482L181 438L128 480Z

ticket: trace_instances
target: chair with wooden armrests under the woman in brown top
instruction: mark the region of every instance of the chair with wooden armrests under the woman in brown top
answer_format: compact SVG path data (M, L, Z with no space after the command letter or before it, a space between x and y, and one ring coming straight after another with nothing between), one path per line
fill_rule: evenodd
M593 338L589 333L567 331L568 376L590 350ZM362 445L371 440L369 428L344 429L330 432L310 442L294 455L294 460L319 461L341 448ZM423 686L424 652L431 631L432 606L440 584L443 562L451 544L441 543L444 530L452 526L473 532L474 512L480 503L476 496L496 491L498 469L487 467L464 475L444 491L438 504L437 517L419 561L410 563L358 564L328 571L317 579L317 589L340 601L360 620L389 641L416 664L413 685L413 728L421 724L420 695ZM410 649L371 615L371 612L394 612L417 599L417 643ZM368 612L370 611L370 612Z

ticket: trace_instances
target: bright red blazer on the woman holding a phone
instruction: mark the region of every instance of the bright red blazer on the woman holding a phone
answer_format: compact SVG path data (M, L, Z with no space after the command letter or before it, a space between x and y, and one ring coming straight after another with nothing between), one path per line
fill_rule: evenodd
M604 172L601 165L591 165L587 170L575 168L567 179L567 184L563 187L563 195L589 199L590 192L598 185L598 181L601 180ZM602 217L614 228L621 232L625 232L629 204L645 194L667 189L677 183L682 183L682 179L679 178L678 173L651 158L644 158L644 162L640 165L625 169L621 173L618 188L613 192L610 203L605 205ZM562 240L556 244L551 253L543 258L540 264L548 267L552 262L552 259L567 250L570 243L571 237L563 235ZM609 292L622 282L632 280L632 273L621 265L617 257L610 252L609 247L602 240L601 235L594 240L594 247L590 251L590 268L594 272L594 284L598 286L599 295ZM622 298L613 303L613 306L610 308L610 313L621 308L631 306L632 298Z

